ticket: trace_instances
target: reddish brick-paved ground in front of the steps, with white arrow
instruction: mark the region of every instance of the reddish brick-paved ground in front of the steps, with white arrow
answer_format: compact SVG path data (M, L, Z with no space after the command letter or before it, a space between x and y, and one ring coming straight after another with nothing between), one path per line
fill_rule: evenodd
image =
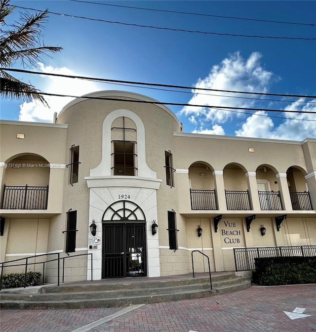
M315 332L316 285L119 308L1 310L1 332Z

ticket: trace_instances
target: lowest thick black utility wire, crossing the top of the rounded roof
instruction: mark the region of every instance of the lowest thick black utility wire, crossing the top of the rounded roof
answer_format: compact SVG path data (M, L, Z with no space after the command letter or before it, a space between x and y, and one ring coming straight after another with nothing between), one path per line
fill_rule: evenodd
M7 92L24 92L20 90L6 90ZM300 113L300 114L315 114L313 111L294 111L294 110L273 110L266 108L252 108L252 107L235 107L235 106L211 106L211 105L195 105L195 104L186 104L186 103L172 103L172 102L161 102L161 101L147 101L147 100L128 100L121 98L109 98L109 97L92 97L92 96L75 96L71 94L59 94L59 93L47 93L47 92L38 92L38 94L44 96L55 96L55 97L71 97L71 98L81 98L81 99L98 99L98 100L109 100L109 101L122 101L128 103L141 103L141 104L152 104L152 105L172 105L172 106L191 106L191 107L202 107L202 108L220 108L222 110L247 110L247 111L265 111L265 112L282 112L282 113Z

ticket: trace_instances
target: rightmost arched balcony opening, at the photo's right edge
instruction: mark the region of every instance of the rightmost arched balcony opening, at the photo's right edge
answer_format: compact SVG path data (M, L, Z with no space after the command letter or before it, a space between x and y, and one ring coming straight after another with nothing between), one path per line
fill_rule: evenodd
M286 171L287 185L293 210L313 209L305 175L306 172L297 166L291 166Z

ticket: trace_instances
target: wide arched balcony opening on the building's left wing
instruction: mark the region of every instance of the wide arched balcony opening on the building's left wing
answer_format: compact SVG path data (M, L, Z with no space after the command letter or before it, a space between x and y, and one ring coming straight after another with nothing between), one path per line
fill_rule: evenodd
M50 166L35 154L6 162L1 195L3 209L47 209Z

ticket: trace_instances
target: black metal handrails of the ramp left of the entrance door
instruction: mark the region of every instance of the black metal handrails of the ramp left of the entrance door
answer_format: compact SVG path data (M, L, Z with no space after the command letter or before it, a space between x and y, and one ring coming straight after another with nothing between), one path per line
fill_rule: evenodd
M54 259L48 259L45 260L43 262L34 262L34 263L29 263L28 260L31 258L37 258L40 256L49 256L49 255L57 255L57 258ZM66 256L66 257L60 257L60 252L54 252L54 253L43 253L40 255L33 255L33 256L29 256L29 257L24 257L24 258L19 258L19 259L13 259L13 260L9 260L6 262L0 262L1 264L1 276L0 276L0 290L2 289L2 276L3 276L3 269L4 267L12 267L12 266L24 266L25 265L25 273L24 273L24 288L26 288L26 277L27 277L27 267L28 265L36 265L36 264L43 264L43 285L44 285L44 273L45 273L45 263L48 262L53 262L53 261L58 261L58 267L57 267L57 285L60 286L60 260L63 260L63 273L62 273L62 283L64 283L64 276L65 276L65 259L66 258L73 258L73 257L78 257L78 256L85 256L85 255L91 255L91 280L93 280L93 266L92 266L92 253L81 253L78 255L73 255L73 256ZM17 262L20 260L26 260L25 264L13 264L13 265L6 265L4 266L4 264L7 263L12 263L12 262Z

